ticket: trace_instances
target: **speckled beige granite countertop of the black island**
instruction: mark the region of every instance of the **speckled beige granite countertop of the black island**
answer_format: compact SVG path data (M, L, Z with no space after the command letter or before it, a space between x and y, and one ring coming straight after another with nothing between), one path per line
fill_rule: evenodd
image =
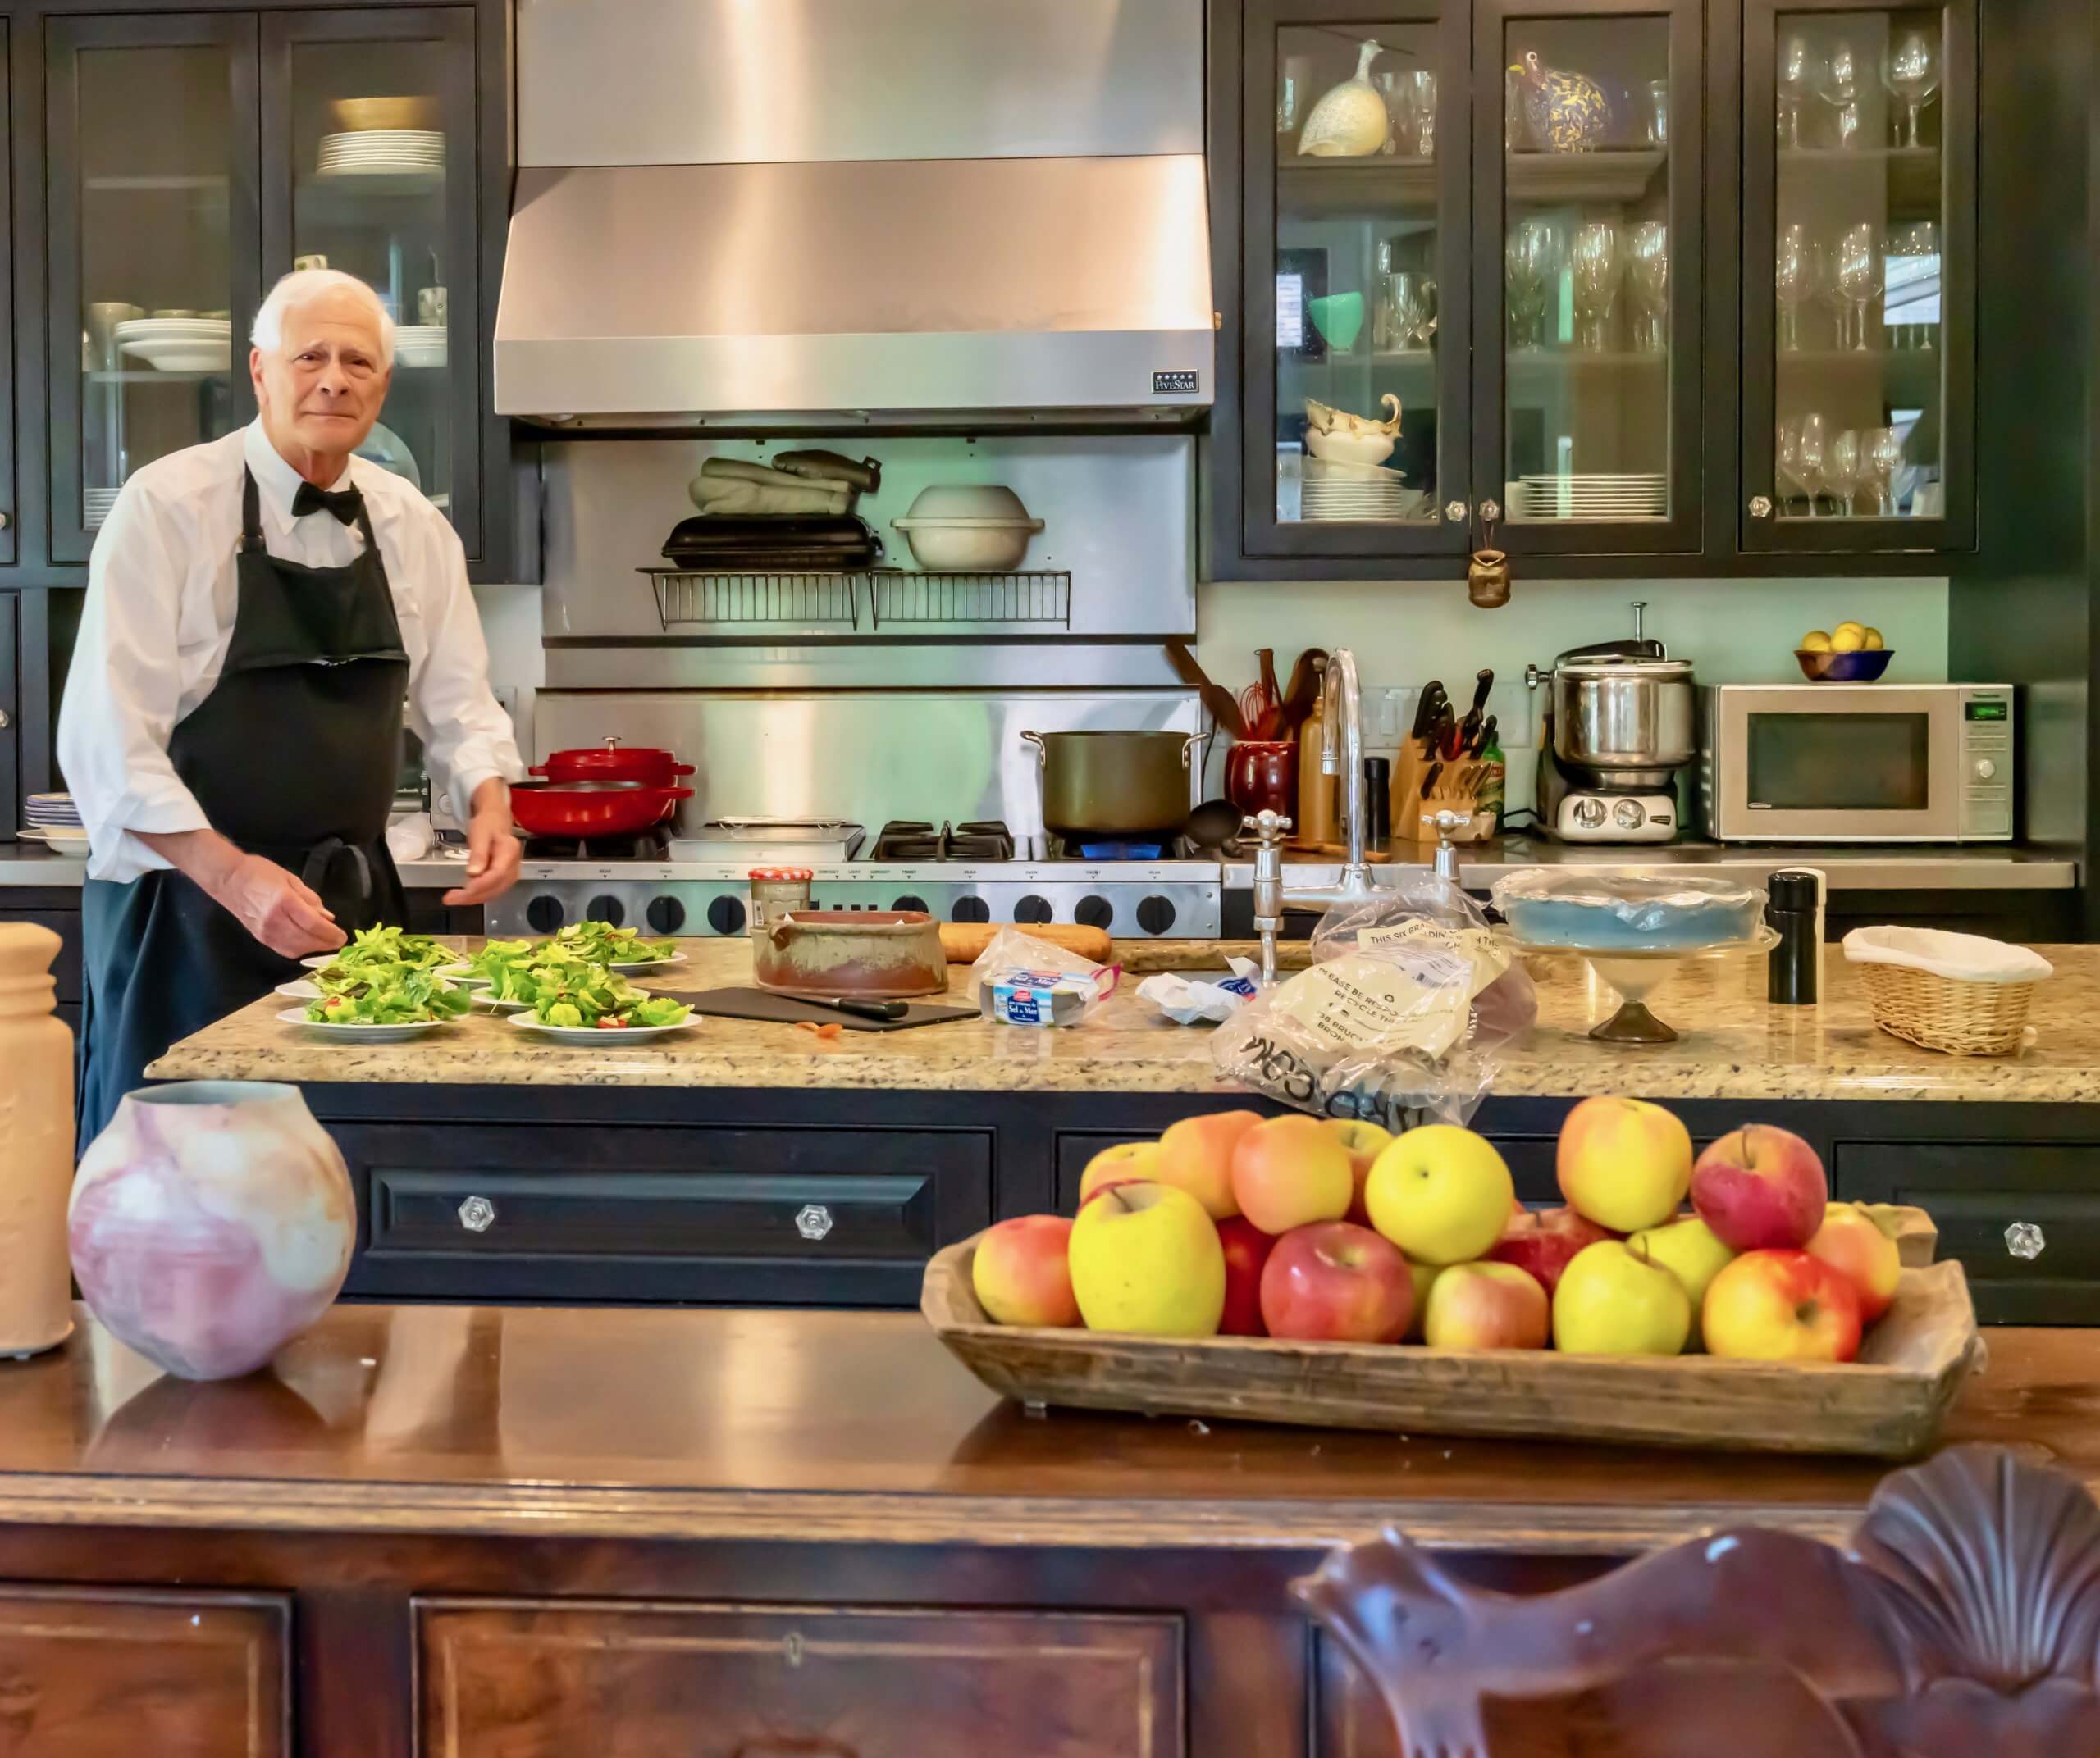
M682 942L687 963L666 992L750 982L746 940ZM254 1007L174 1045L155 1078L578 1085L578 1087L834 1087L926 1091L1214 1093L1210 1030L1176 1026L1136 986L1144 971L1222 969L1220 942L1124 942L1128 976L1092 1020L1027 1030L964 1020L909 1032L819 1041L796 1026L704 1020L695 1030L632 1045L569 1047L477 1013L401 1045L342 1045L275 1020L288 1003ZM1875 1030L1838 948L1825 948L1823 1005L1772 1007L1764 959L1690 961L1651 996L1682 1036L1623 1047L1588 1036L1615 996L1579 959L1533 963L1539 1024L1508 1051L1495 1080L1506 1097L1638 1093L1648 1099L1997 1099L2100 1103L2100 946L2048 946L2056 978L2035 996L2035 1043L2018 1057L1964 1059L1915 1049ZM1304 944L1285 948L1304 957ZM966 967L951 967L966 1001ZM645 980L647 982L647 980Z

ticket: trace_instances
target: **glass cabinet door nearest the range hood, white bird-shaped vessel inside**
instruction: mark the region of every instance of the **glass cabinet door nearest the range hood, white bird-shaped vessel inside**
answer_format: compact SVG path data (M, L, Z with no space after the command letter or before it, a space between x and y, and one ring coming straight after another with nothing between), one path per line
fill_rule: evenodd
M1464 8L1250 6L1245 25L1245 552L1457 556Z

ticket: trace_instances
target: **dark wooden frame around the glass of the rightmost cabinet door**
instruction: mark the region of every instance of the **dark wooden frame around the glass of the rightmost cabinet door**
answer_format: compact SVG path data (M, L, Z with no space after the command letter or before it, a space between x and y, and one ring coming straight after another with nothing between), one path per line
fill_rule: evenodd
M1779 501L1772 250L1779 227L1777 61L1779 19L1793 13L1882 10L1861 0L1745 0L1743 4L1743 493L1741 545L1751 552L1829 556L1911 552L1940 560L1976 548L1976 0L1940 0L1940 480L1942 518L1758 518L1751 499ZM1919 8L1922 10L1922 8ZM2016 264L2006 264L2016 273Z

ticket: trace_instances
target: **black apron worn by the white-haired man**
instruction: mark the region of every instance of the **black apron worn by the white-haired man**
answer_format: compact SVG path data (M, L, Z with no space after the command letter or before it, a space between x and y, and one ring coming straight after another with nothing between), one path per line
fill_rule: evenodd
M344 934L407 919L386 854L407 652L363 508L357 529L365 548L349 566L281 560L262 543L256 478L244 472L227 663L168 736L212 829L304 879ZM172 869L90 879L82 942L82 1148L168 1045L300 976Z

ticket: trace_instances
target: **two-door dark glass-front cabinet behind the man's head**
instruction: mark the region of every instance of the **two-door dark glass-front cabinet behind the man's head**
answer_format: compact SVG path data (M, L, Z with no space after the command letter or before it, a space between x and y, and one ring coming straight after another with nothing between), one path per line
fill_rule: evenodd
M134 470L254 415L248 329L294 266L395 319L363 455L481 550L470 6L48 25L50 558Z

